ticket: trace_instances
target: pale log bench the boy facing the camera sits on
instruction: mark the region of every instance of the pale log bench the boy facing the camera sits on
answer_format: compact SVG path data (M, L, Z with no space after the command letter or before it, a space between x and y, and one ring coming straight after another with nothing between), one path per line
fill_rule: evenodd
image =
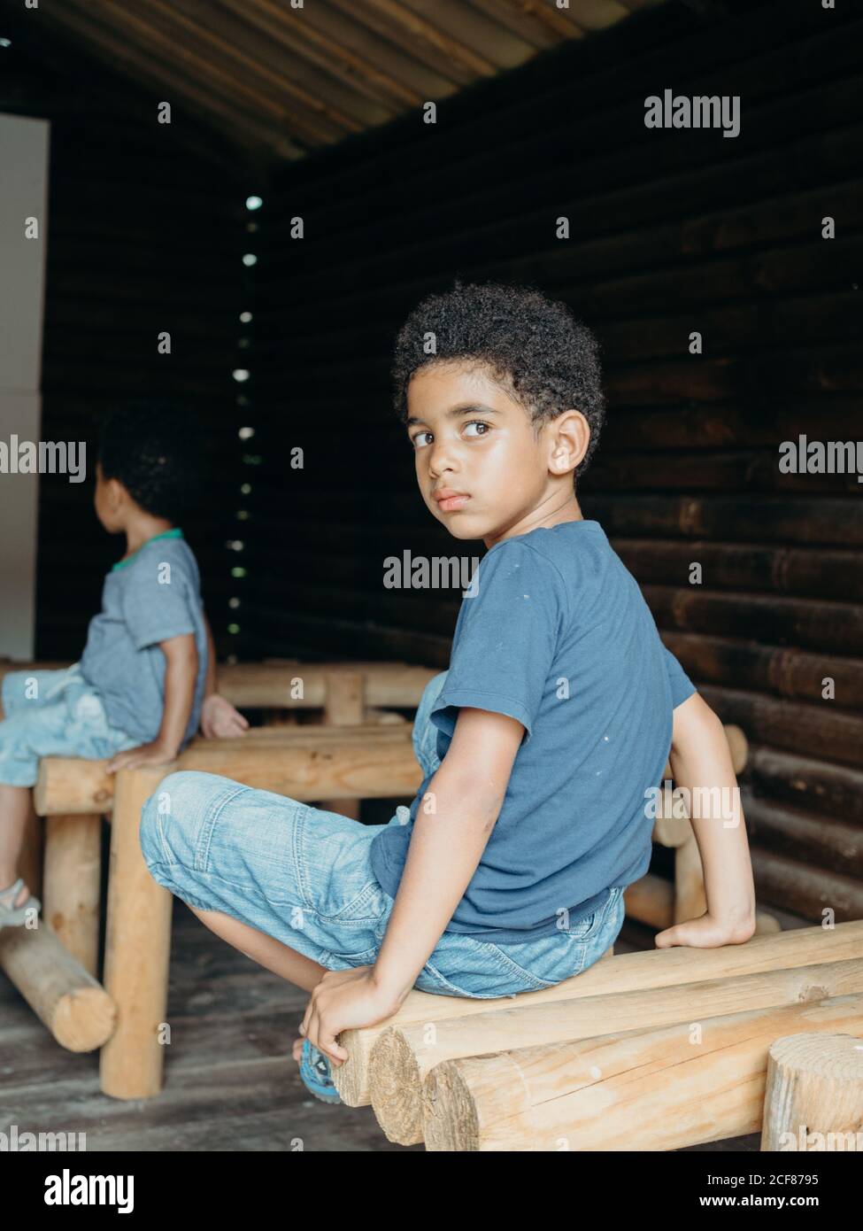
M798 1032L863 1039L863 921L608 956L515 998L412 990L342 1032L332 1072L403 1145L680 1150L758 1131L768 1051Z

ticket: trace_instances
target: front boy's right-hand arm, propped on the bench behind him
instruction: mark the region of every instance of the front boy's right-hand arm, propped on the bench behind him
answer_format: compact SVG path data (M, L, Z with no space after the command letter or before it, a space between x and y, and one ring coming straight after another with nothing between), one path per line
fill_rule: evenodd
M675 784L686 789L692 804L688 811L704 868L707 915L660 932L656 945L741 944L755 933L746 821L723 724L697 692L675 709L668 761ZM720 800L723 806L718 806ZM708 801L712 808L703 806ZM712 812L719 815L704 815Z

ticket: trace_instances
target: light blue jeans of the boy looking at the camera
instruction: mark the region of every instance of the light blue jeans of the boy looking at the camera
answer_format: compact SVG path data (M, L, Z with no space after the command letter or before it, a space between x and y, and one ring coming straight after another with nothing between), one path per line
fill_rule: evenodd
M427 684L414 724L425 773L440 763L428 714L443 678ZM407 819L399 808L389 824ZM223 911L329 970L347 970L374 964L393 911L369 862L378 832L286 795L181 771L144 805L140 846L154 879L188 905ZM484 1000L554 987L606 953L623 915L617 886L592 915L553 936L495 944L444 932L414 986Z

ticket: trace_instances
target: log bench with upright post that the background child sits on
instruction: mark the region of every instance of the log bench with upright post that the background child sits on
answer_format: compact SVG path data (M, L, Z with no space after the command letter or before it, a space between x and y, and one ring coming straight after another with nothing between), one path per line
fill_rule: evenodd
M58 885L74 885L78 900L90 906L84 918L79 912L79 927L66 933L73 952L76 936L85 932L86 952L92 950L98 880L92 856L100 816L112 812L103 980L117 1009L117 1027L102 1046L101 1078L103 1092L117 1098L147 1097L161 1088L164 1051L156 1032L166 1008L171 895L147 869L138 826L144 801L169 773L183 768L222 773L303 800L326 794L410 798L421 782L407 724L263 728L236 740L196 740L172 764L116 776L105 772L105 762L42 761L34 798L58 843L57 848L53 841L49 844L53 879ZM86 885L85 867L90 868ZM14 977L21 986L20 968Z

